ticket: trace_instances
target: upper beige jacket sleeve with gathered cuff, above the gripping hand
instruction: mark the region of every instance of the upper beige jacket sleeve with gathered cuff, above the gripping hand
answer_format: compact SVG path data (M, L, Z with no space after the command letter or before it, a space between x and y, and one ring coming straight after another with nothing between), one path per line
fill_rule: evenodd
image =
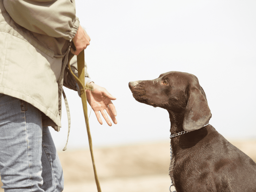
M79 27L75 0L4 0L12 19L29 31L73 39Z

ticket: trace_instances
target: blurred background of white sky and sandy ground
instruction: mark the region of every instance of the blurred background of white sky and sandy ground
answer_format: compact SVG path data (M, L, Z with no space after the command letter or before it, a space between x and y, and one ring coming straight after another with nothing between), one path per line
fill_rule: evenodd
M93 111L89 118L102 191L169 191L169 115L137 102L128 87L168 71L197 76L210 124L256 160L255 9L254 0L76 0L91 37L88 72L117 98L117 124L100 125ZM97 191L82 103L76 92L64 90L71 113L67 151L61 151L68 133L64 103L61 131L51 130L64 191Z

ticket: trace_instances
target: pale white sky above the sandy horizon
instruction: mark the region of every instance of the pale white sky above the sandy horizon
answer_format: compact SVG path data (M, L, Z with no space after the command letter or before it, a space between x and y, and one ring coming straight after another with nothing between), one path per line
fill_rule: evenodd
M117 98L116 125L100 125L92 111L93 146L168 140L168 112L137 102L128 87L168 71L197 76L212 112L210 124L224 137L256 139L255 10L254 0L76 0L76 14L91 37L88 72ZM71 111L68 149L87 148L81 99L64 90ZM67 126L63 110L61 131L51 128L58 150Z

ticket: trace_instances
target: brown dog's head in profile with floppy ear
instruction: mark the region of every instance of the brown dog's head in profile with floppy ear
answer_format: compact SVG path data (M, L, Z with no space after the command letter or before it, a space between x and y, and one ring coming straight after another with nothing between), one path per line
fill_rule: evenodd
M204 90L192 74L171 71L153 80L129 82L129 88L135 100L182 117L185 131L200 129L212 116Z

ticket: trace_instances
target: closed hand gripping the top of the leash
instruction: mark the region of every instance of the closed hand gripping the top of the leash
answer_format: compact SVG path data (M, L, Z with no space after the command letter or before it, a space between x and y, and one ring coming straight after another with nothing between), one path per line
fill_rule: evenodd
M90 44L91 38L88 36L84 28L79 25L78 30L76 32L75 37L72 39L76 50L72 47L70 48L70 52L74 55L78 55L81 51L86 49L86 47Z

